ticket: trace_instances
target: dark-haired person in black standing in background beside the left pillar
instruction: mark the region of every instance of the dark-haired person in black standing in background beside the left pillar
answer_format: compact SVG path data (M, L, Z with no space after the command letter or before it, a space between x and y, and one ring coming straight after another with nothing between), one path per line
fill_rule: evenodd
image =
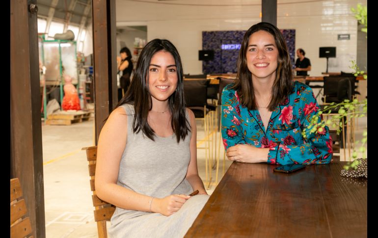
M122 89L122 96L120 97L120 95L118 95L118 98L120 99L125 95L127 88L130 85L130 77L133 72L133 62L131 61L132 54L129 48L123 47L119 51L119 54L121 56L117 56L117 69L118 73L122 71L122 77L119 79Z

